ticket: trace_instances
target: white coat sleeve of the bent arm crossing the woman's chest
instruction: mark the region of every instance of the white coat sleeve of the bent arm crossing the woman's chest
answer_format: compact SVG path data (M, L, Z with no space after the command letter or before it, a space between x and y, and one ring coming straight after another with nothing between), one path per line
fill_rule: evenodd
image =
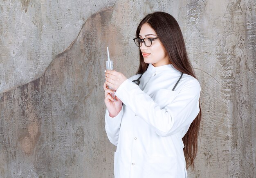
M123 82L115 94L127 107L154 127L159 136L164 137L176 134L193 122L200 110L200 91L198 80L188 80L175 98L162 109L130 80ZM167 99L162 97L163 100Z

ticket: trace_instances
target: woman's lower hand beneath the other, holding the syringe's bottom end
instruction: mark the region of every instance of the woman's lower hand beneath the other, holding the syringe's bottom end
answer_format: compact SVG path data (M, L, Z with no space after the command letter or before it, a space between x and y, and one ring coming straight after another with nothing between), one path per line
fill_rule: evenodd
M115 98L111 96L110 93L114 93L114 91L111 89L108 89L106 82L104 82L103 88L105 90L104 102L107 106L109 116L113 118L117 116L117 114L121 111L123 102L119 98L117 98L117 96Z

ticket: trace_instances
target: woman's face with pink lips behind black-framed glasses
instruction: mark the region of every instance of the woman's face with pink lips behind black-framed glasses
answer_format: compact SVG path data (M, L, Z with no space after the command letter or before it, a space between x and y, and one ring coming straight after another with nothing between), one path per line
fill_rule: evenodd
M153 30L148 24L143 24L140 32L139 38L156 38L157 35L155 30ZM168 56L165 52L164 46L160 42L159 38L152 41L152 45L147 47L143 42L140 47L141 53L144 58L144 62L147 64L152 64L155 67L170 64Z

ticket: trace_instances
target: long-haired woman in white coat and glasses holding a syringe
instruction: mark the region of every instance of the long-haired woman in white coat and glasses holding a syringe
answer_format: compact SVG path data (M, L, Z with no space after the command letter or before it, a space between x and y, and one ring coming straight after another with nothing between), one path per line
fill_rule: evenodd
M140 22L134 41L137 75L105 74L105 128L117 146L115 178L186 178L197 152L201 89L182 32L170 14L155 12Z

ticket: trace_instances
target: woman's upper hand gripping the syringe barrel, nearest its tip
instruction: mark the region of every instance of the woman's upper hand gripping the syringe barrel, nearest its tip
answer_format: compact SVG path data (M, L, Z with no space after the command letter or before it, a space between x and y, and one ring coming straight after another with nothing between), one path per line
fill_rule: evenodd
M115 91L127 79L123 73L111 70L106 70L105 76L106 84Z

